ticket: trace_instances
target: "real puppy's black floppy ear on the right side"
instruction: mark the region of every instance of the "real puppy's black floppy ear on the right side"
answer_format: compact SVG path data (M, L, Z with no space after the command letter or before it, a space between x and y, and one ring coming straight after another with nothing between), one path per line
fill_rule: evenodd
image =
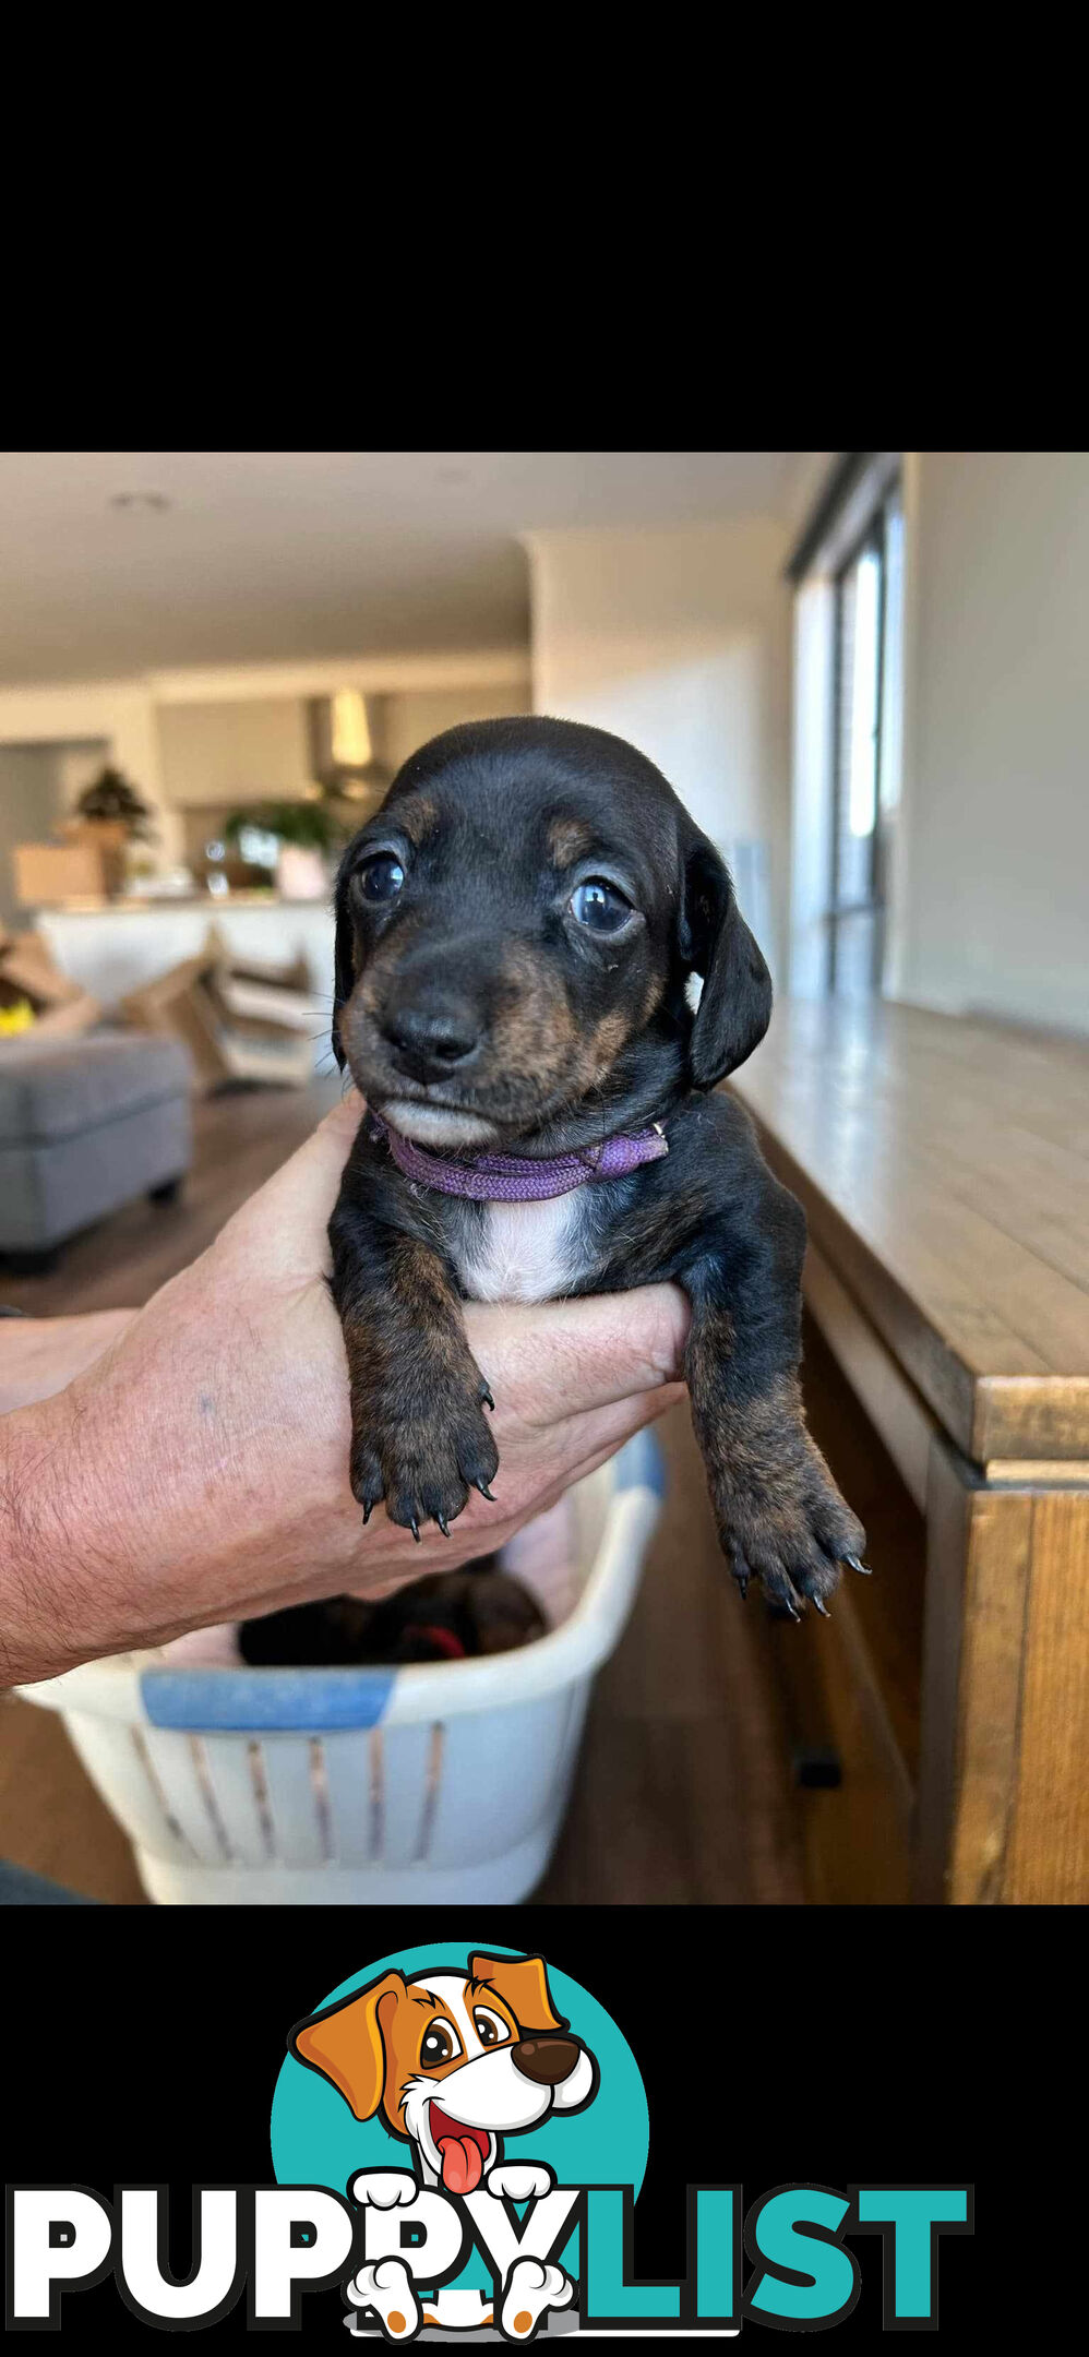
M684 863L679 950L702 973L691 1037L698 1089L712 1089L759 1047L771 1023L771 973L733 896L726 860L693 827Z

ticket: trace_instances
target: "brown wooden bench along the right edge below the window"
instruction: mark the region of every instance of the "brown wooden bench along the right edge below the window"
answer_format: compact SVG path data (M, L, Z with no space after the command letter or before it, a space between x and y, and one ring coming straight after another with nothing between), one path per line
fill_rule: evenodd
M837 1664L839 1749L860 1730L844 1787L886 1782L874 1822L882 1848L903 1838L903 1895L1084 1902L1089 1051L882 1002L780 1002L731 1087L806 1207L811 1318L924 1516L917 1695L893 1690L912 1600L896 1579L882 1596L879 1560L865 1605L844 1579L837 1655L792 1652L790 1678ZM787 1633L818 1648L827 1631ZM834 1843L839 1794L820 1801ZM813 1895L900 1895L863 1855L837 1874Z

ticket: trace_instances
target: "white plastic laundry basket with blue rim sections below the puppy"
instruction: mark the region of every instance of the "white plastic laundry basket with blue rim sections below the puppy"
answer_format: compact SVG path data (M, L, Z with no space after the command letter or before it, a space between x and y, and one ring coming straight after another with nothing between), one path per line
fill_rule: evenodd
M521 1900L575 1772L589 1688L632 1610L662 1497L636 1433L573 1492L573 1612L537 1643L408 1669L90 1662L28 1685L167 1904Z

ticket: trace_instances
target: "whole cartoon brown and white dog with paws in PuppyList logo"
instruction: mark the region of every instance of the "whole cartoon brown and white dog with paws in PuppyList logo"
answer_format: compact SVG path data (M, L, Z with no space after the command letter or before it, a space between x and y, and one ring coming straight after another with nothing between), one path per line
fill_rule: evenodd
M467 1970L427 1966L420 1978L382 1973L297 2022L288 2046L332 2081L356 2119L377 2114L408 2143L412 2173L363 2168L351 2183L354 2201L380 2209L415 2201L422 2185L540 2199L556 2183L552 2171L504 2161L504 2138L537 2128L552 2112L582 2112L599 2086L594 2055L552 2003L542 1956L469 1956ZM542 2315L566 2308L573 2293L563 2267L521 2258L502 2286L495 2322L526 2341ZM420 2308L398 2258L361 2267L349 2298L372 2310L387 2338L398 2341L422 2324L493 2324L493 2291L438 2291Z

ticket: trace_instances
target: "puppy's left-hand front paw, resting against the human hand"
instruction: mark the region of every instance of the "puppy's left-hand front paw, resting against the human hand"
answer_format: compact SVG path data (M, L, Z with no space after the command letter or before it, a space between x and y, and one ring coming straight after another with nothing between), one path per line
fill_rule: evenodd
M408 1393L408 1386L403 1386ZM351 1414L351 1492L370 1520L380 1499L387 1516L420 1539L422 1523L438 1523L443 1534L469 1501L469 1490L490 1497L500 1452L488 1428L483 1402L488 1384L427 1381L410 1386L405 1400L354 1400Z

